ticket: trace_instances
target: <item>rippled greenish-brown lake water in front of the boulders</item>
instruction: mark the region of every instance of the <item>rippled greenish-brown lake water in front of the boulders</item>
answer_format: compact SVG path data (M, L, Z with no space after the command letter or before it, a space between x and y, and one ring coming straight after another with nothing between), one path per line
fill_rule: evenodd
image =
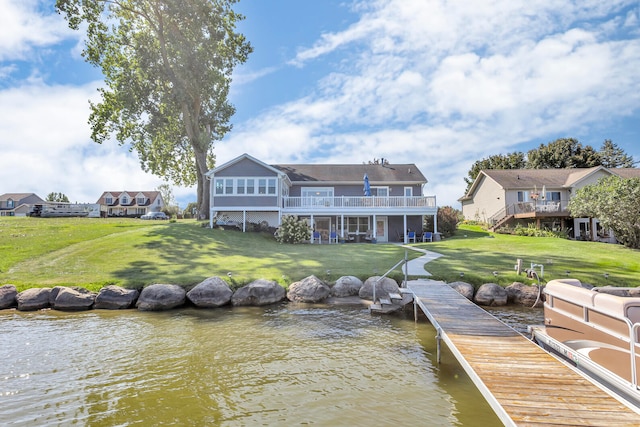
M0 425L502 425L435 349L426 320L360 306L3 310Z

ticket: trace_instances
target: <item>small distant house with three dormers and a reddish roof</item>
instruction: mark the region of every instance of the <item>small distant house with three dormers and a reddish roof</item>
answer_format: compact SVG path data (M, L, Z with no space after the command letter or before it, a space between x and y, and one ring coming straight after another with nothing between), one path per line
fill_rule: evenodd
M140 217L164 208L159 191L105 191L96 203L103 216Z

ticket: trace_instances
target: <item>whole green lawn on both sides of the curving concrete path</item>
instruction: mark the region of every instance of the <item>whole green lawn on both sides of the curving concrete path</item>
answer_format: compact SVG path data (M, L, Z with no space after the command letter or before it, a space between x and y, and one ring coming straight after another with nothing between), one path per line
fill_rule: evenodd
M545 280L566 277L570 271L570 277L594 285L640 284L640 253L617 245L494 235L464 227L453 238L415 246L444 255L427 270L446 281L460 280L464 273L462 280L475 285L508 285L524 280L514 271L521 258L525 267L544 264ZM233 286L258 278L288 285L311 274L328 281L343 275L364 279L386 272L404 255L404 248L391 244L279 244L268 235L211 230L192 220L0 218L0 284L11 283L19 290L190 286L210 276L224 277ZM394 277L400 279L401 272Z

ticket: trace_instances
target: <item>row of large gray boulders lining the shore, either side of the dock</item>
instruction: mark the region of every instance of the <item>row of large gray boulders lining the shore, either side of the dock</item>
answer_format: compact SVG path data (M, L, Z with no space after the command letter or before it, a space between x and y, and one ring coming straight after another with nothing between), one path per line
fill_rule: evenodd
M355 276L342 276L333 284L327 284L316 276L309 276L290 284L288 290L275 281L259 279L235 292L220 277L210 277L189 291L178 285L152 284L141 290L110 285L97 293L65 286L30 288L18 293L16 287L9 284L0 286L0 309L82 311L137 308L143 311L162 311L185 306L263 306L285 300L323 303L330 298L359 298L361 303L367 303L373 299L374 286L376 296L380 298L388 297L390 293L399 293L398 283L394 279L381 279L380 276L370 277L364 282ZM538 286L515 282L503 288L495 283L487 283L477 291L466 282L454 282L450 286L479 305L500 306L511 303L529 307L542 306L542 293Z

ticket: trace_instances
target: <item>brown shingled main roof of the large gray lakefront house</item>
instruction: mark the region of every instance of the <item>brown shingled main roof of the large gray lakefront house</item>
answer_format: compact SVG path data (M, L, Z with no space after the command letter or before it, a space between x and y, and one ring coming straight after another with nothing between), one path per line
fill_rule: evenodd
M273 165L291 182L361 183L367 174L375 184L425 184L427 179L413 164L302 164Z

